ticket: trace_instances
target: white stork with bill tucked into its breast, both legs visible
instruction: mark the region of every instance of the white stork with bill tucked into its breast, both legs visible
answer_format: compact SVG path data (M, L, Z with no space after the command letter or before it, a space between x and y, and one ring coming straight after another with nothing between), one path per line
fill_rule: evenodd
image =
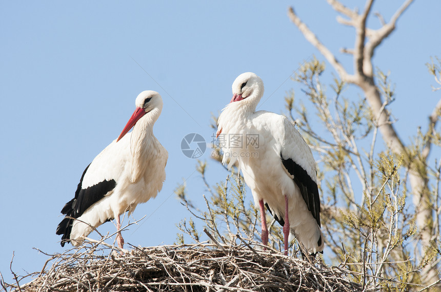
M266 206L283 226L285 254L293 236L309 254L323 252L311 149L286 117L255 111L264 94L264 83L257 75L239 75L232 89L233 98L217 121L217 136L223 135L219 139L223 163L229 159L228 168L238 163L260 208L263 244L268 243Z

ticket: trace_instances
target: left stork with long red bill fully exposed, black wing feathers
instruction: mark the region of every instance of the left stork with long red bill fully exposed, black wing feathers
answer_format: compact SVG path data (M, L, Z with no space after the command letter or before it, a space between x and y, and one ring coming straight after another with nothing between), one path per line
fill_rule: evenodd
M115 218L117 244L123 249L119 215L126 211L130 214L136 205L161 191L168 153L153 135L153 124L161 114L163 100L157 92L144 91L135 104L118 139L86 167L75 197L61 211L66 217L58 224L56 234L63 235L62 246L66 242L81 244L93 228Z

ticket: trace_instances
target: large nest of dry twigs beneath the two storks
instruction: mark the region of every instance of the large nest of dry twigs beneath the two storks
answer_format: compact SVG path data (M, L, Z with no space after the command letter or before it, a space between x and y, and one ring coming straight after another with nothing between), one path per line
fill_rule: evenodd
M18 285L22 278L2 286L15 291L369 291L348 278L353 272L252 244L132 246L121 252L89 242L50 255L41 272L26 276L35 278L31 282Z

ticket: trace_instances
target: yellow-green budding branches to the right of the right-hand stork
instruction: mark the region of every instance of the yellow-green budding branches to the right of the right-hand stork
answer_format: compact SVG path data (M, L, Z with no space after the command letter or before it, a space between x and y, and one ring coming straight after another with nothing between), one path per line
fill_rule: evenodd
M432 72L439 71L439 66L431 68ZM305 87L303 92L314 109L312 113L306 112L307 106L303 103L296 106L293 98L287 99L287 109L293 121L294 116L299 117L296 125L316 150L319 168L325 173L319 176L319 182L325 186L322 225L326 244L332 251L329 260L335 264L345 263L358 272L360 277L356 280L360 282L368 281L386 290L414 289L413 284L420 283L419 270L441 254L439 236L434 237L431 246L418 244L415 209L407 195L408 166L419 163L418 172L435 182L436 187L431 188L432 205L434 210L440 210L437 187L440 168L432 169L429 177L425 175L427 164L423 163L424 147L429 140L437 145L439 133L432 130L429 137L420 134L408 147L411 160L405 161L403 155L393 154L388 145L377 145L380 125L366 100L353 98L354 88L347 88L344 82L333 78L331 94L325 94L328 88L320 81L324 72L324 64L314 58L296 74L295 80ZM389 74L378 69L376 72L386 110L395 100L395 89ZM347 89L353 91L351 98L344 96ZM297 115L291 112L295 108ZM318 117L319 125L310 117ZM314 129L322 129L322 132ZM385 149L378 150L382 148ZM439 212L435 219L438 217ZM439 235L439 227L436 230L434 235Z

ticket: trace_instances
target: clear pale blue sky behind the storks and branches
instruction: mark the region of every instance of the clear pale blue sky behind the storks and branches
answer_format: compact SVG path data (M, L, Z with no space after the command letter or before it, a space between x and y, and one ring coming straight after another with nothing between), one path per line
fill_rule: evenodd
M441 2L427 3L410 6L374 57L374 65L390 71L396 84L392 109L405 141L418 126L427 127L439 99L425 63L430 56L441 57ZM391 0L373 10L388 20L401 4ZM302 99L298 84L286 79L305 59L323 59L290 23L291 5L352 72L352 60L338 50L352 48L353 29L338 25L325 1L0 2L0 271L5 280L12 279L13 251L12 267L24 275L39 271L47 259L33 247L65 250L55 235L59 212L73 197L84 168L121 132L144 90L157 91L164 100L154 133L169 152L167 178L156 199L135 210L135 219L147 214L141 226L123 236L134 245L173 243L175 224L189 217L173 190L186 180L190 198L206 192L196 160L181 151L183 137L197 132L211 141L211 114L230 101L231 84L240 73L262 77L263 100L269 99L259 109L281 113L291 89L296 100ZM369 24L379 26L375 18ZM328 78L333 73L328 66ZM209 160L209 151L202 159ZM214 163L208 171L213 183L225 178ZM115 227L106 223L99 230L113 233Z

